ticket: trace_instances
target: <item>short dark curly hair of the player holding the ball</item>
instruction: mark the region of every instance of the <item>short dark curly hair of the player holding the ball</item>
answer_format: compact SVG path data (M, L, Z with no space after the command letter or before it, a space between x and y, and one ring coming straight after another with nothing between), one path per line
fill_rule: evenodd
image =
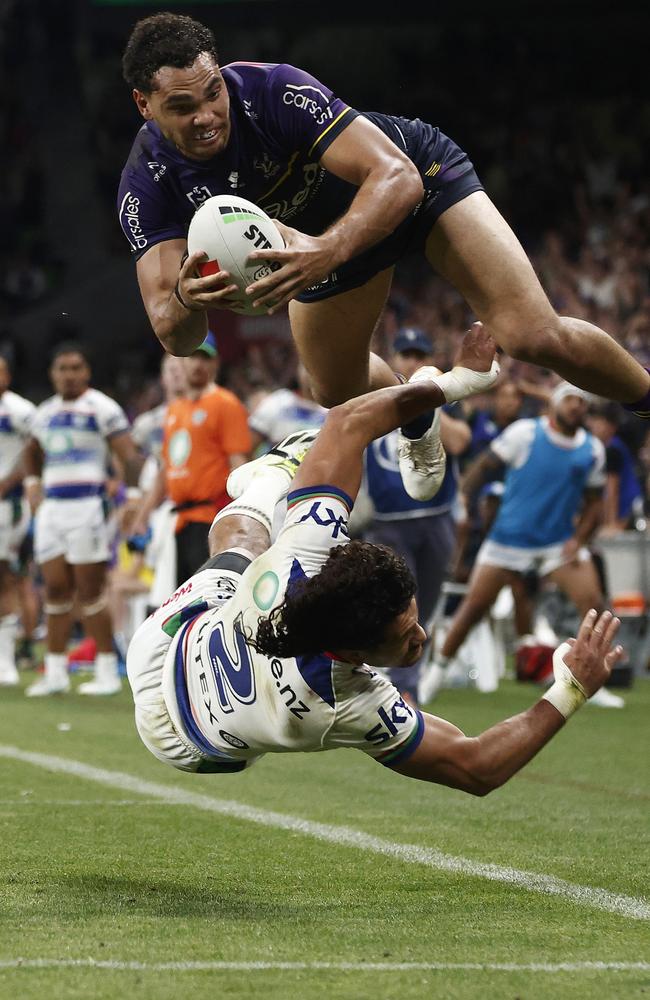
M207 52L218 61L217 43L209 28L186 14L153 14L138 21L122 56L129 87L150 94L161 66L186 69Z

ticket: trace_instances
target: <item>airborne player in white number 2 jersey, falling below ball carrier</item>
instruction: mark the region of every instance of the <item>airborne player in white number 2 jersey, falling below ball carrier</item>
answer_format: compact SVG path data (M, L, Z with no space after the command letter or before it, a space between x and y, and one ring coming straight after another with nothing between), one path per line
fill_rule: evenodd
M136 725L156 757L186 771L240 771L267 752L355 747L400 773L483 795L600 687L621 655L610 651L618 622L609 612L590 612L573 646L560 647L558 680L541 701L475 739L412 709L366 665L414 663L426 633L401 557L348 543L364 450L404 420L491 384L493 355L494 342L474 328L450 378L429 369L331 410L270 548L274 505L304 439L231 474L239 499L215 518L215 555L129 649Z

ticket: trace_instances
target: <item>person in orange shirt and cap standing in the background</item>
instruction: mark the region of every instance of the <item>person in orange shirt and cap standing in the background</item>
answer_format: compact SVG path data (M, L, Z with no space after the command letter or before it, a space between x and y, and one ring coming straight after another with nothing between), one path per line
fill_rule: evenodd
M176 576L181 584L208 558L208 532L229 502L226 480L248 461L248 413L234 393L215 385L213 333L184 359L187 394L167 407L162 458L167 495L177 511Z

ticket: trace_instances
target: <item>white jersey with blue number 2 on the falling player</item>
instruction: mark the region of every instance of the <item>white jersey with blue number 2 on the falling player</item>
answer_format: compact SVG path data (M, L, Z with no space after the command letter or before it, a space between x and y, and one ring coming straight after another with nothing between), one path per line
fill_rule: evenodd
M327 653L280 660L246 642L293 581L313 576L331 549L347 542L351 506L327 486L290 493L277 541L240 578L219 569L198 573L136 633L128 661L164 660L167 710L204 755L199 770L242 770L268 752L337 747L393 765L418 746L421 714L371 667Z

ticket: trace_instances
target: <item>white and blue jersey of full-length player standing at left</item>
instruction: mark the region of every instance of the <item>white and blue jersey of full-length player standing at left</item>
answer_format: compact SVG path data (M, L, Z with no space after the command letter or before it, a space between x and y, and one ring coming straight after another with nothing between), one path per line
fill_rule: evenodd
M128 429L122 407L98 389L86 389L77 399L57 395L41 403L32 434L43 449L45 496L99 496L106 481L107 441Z

